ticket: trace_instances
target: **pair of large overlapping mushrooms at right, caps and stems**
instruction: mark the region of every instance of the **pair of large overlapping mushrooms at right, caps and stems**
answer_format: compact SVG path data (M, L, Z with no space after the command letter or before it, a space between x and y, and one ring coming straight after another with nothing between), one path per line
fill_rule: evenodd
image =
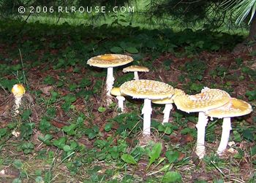
M206 154L205 133L208 117L224 118L222 139L217 150L222 155L227 147L231 130L230 117L241 116L252 112L252 106L245 101L231 98L228 93L219 89L203 88L194 96L184 95L174 98L177 108L184 112L199 112L197 122L197 145L195 153L202 159Z

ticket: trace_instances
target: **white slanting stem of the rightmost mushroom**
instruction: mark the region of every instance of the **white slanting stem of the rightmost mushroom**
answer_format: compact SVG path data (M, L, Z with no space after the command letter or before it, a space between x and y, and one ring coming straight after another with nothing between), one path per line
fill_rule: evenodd
M223 118L222 123L222 139L220 140L219 147L217 149L217 154L222 155L222 153L227 148L228 139L230 137L231 128L231 120L230 117Z

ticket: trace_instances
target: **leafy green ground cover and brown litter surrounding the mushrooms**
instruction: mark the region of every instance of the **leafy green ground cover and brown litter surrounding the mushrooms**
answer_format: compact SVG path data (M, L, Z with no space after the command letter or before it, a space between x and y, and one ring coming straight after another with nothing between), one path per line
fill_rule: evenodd
M255 182L255 52L235 55L244 37L206 29L59 26L0 22L0 182ZM24 26L25 25L25 26ZM222 120L206 128L207 154L195 156L196 114L153 105L152 141L142 144L143 101L127 98L124 114L102 96L107 72L86 61L127 54L154 79L188 94L219 88L248 101L253 112L234 118L229 151L215 155ZM125 66L124 66L125 67ZM118 67L115 87L133 79ZM13 117L12 86L26 87Z

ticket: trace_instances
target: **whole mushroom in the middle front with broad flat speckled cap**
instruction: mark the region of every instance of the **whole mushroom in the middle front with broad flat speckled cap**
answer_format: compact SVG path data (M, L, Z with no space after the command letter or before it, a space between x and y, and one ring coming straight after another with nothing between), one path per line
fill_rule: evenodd
M120 86L121 93L132 98L143 98L144 106L143 114L143 135L150 136L151 128L151 100L171 98L173 96L173 87L164 82L157 82L153 80L140 79L124 82Z

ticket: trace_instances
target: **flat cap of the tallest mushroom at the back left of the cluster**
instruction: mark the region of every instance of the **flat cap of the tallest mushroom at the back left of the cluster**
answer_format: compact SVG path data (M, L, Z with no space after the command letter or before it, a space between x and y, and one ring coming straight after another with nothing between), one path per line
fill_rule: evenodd
M87 64L89 64L90 66L97 66L100 68L108 68L108 67L123 66L132 61L133 61L133 58L128 55L105 54L105 55L98 55L96 57L90 58L87 61Z

